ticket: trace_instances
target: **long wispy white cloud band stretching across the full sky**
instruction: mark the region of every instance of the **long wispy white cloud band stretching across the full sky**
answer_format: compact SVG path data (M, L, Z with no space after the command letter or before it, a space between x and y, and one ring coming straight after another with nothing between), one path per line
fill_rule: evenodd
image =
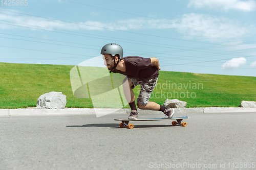
M214 17L204 14L184 14L174 20L134 18L112 22L85 21L79 23L64 22L60 20L24 16L13 13L1 13L0 20L6 20L14 25L23 23L25 27L38 26L65 30L147 30L147 29L176 29L184 38L200 38L208 41L226 41L244 37L254 33L253 26L241 25L239 22L224 17ZM7 22L7 23L8 23ZM24 26L20 25L20 26ZM0 23L0 29L17 29L23 27L8 26ZM33 28L33 27L32 27ZM30 29L32 29L30 28Z

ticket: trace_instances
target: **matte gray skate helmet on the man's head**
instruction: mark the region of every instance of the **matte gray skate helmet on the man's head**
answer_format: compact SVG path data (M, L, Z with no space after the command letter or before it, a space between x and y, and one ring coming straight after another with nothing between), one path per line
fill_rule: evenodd
M115 57L115 55L119 55L119 59L123 58L123 48L119 44L115 43L109 43L105 44L100 54L111 54L112 57Z

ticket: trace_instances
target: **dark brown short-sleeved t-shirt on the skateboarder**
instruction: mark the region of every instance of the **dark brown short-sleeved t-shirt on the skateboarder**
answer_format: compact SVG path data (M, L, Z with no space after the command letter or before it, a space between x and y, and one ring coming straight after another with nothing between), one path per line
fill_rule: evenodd
M125 63L125 72L117 69L112 72L132 77L158 77L159 75L158 69L151 63L150 58L128 56L122 60Z

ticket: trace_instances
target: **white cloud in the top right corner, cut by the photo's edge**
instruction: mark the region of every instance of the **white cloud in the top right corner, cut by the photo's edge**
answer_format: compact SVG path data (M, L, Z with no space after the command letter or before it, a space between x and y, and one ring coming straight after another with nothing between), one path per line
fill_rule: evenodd
M195 8L213 8L213 9L237 9L242 11L256 10L256 1L254 0L189 0L188 7Z

